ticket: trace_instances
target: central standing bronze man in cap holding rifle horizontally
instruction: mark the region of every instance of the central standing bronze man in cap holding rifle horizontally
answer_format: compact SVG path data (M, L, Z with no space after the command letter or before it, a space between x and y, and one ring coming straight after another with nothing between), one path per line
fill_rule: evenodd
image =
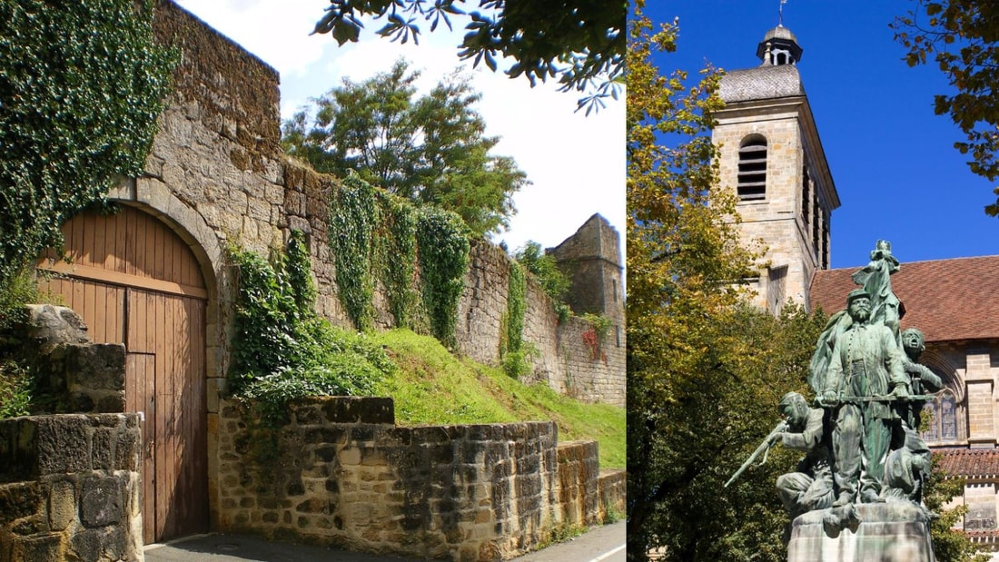
M835 341L819 403L831 409L833 506L884 501L884 463L892 436L892 403L911 391L903 352L883 322L871 323L871 295L856 288L846 297L852 323Z

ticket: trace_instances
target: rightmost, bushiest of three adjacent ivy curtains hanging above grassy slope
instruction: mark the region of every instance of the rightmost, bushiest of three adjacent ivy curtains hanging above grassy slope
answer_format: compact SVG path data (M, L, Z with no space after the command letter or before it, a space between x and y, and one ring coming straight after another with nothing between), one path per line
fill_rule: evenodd
M442 343L455 347L458 303L465 290L469 266L468 227L454 213L436 207L422 208L417 245L431 330Z

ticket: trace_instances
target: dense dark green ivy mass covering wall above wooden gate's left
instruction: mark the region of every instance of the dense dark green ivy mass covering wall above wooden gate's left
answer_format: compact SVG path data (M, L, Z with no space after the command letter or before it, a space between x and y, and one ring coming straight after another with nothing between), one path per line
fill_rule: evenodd
M142 172L176 61L152 15L132 0L0 3L0 283Z

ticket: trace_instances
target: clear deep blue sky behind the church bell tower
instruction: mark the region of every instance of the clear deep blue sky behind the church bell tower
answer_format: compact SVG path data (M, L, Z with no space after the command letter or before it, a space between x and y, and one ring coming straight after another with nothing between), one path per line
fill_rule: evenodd
M654 21L679 17L676 53L663 72L709 61L759 64L756 45L778 23L779 0L648 2ZM949 86L935 66L909 68L888 24L915 2L789 0L783 25L803 49L798 70L841 207L833 212L833 268L866 264L878 239L904 264L999 255L999 219L987 217L995 184L953 148L963 139L933 95Z

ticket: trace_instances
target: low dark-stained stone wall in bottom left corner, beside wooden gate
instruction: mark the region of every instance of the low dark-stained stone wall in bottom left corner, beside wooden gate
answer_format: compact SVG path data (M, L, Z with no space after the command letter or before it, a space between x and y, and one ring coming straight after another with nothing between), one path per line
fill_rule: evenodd
M143 560L138 414L0 421L0 560Z

